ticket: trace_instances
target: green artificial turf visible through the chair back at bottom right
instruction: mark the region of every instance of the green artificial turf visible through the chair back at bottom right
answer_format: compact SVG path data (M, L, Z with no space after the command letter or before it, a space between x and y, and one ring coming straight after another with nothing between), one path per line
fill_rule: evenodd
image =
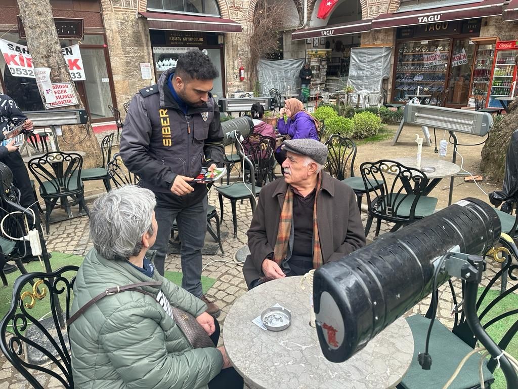
M510 287L508 285L508 287ZM479 296L482 294L483 288L479 288ZM482 301L482 304L479 308L479 314L487 307L487 304L493 301L498 295L499 290L490 290ZM482 324L487 323L492 318L511 311L512 309L516 309L518 307L518 295L515 293L511 293L509 296L506 296L498 304L493 307L490 312L482 318ZM511 315L506 318L501 319L496 322L492 326L487 328L487 333L495 340L497 343L502 339L505 333L511 328L511 326L518 319L518 315ZM506 348L506 351L511 354L513 357L518 358L518 336L515 335L509 345ZM507 389L506 379L503 376L503 372L500 368L497 368L494 372L495 382L491 385L491 389Z

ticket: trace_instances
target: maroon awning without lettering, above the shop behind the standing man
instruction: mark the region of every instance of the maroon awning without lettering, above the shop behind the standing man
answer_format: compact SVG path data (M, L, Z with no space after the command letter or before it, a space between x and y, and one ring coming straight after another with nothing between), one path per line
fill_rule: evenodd
M178 15L176 13L139 12L150 30L242 32L242 26L231 19L212 16Z

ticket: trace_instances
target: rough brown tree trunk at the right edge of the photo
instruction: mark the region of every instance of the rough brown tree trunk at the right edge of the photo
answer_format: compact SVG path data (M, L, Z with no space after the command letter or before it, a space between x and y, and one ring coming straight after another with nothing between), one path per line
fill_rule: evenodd
M480 154L480 170L486 178L503 183L506 166L507 148L511 134L518 128L518 109L516 99L509 104L508 114L490 130L489 138Z

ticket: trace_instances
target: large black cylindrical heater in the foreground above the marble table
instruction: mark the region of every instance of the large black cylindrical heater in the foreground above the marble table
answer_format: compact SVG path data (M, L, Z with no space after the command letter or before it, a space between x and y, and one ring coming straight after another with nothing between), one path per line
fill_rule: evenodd
M317 270L313 301L325 357L343 362L363 349L431 293L442 256L483 255L500 230L491 205L467 198ZM437 285L448 279L440 273Z

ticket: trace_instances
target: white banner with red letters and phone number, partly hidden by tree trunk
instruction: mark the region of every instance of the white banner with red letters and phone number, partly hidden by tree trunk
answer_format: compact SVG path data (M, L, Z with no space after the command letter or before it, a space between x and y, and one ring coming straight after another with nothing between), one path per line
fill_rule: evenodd
M0 51L2 51L5 63L13 76L35 78L32 55L27 46L0 39ZM70 78L74 81L85 80L79 45L64 47L61 52L68 65Z

